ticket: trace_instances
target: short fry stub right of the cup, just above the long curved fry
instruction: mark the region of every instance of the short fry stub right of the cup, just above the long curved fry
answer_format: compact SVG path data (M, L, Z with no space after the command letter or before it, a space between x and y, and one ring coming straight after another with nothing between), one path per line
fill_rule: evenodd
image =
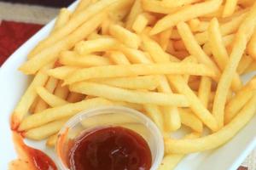
M183 109L179 109L178 111L183 125L190 127L193 131L197 133L202 133L203 124L192 111Z

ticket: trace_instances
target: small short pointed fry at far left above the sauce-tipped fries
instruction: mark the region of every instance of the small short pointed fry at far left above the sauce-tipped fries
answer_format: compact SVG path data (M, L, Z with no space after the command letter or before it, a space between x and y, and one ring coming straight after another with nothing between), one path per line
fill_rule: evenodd
M37 93L40 96L40 98L44 99L44 101L51 107L67 104L66 100L61 99L61 98L55 96L54 94L50 94L46 88L38 87Z

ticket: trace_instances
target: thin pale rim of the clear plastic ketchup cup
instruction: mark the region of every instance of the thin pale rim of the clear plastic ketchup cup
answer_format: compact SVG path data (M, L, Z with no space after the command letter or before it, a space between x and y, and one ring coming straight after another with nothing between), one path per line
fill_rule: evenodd
M142 121L142 123L144 124L144 126L148 128L148 131L151 132L151 135L154 136L154 139L157 140L157 144L156 144L157 149L156 149L156 153L155 153L156 156L155 156L152 166L150 167L150 170L156 170L160 166L160 163L164 156L164 139L163 139L162 134L160 133L160 129L154 124L154 122L151 121L148 118L148 116L145 116L142 112L136 111L136 110L128 108L128 107L103 106L103 107L97 107L97 108L90 109L90 110L79 111L78 114L71 117L64 124L64 126L61 127L61 130L57 135L58 138L57 138L57 142L55 144L55 154L57 157L57 163L61 167L62 170L69 170L69 168L64 165L64 163L61 159L61 156L60 156L61 154L60 154L60 150L58 147L58 144L60 143L62 134L67 133L67 129L70 127L74 127L76 125L76 123L79 123L81 121L81 119L84 119L84 118L90 117L90 116L106 114L108 112L116 113L119 111L122 111L122 114L132 115L132 116L136 116L137 118L139 118Z

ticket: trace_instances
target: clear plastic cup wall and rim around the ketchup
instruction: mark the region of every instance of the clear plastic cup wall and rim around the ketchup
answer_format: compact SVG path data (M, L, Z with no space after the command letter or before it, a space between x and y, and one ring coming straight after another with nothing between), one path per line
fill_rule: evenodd
M164 156L164 141L160 130L143 113L122 106L109 106L89 111L81 111L73 116L61 128L55 152L61 170L68 170L67 161L70 141L79 137L84 131L101 127L125 127L140 134L151 150L152 166L156 170Z

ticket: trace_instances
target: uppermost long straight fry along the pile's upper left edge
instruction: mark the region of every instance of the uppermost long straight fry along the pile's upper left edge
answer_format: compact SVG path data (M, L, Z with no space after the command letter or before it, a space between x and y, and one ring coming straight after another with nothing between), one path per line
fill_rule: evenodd
M58 42L61 39L63 39L64 37L68 37L68 35L73 34L72 32L77 30L77 28L79 28L79 26L81 28L85 23L88 23L89 20L93 20L93 18L96 16L96 14L100 13L105 8L108 8L109 5L115 3L116 1L117 0L109 0L109 1L103 0L103 1L99 1L97 3L90 5L88 8L83 10L83 12L79 13L78 15L75 15L71 20L69 20L67 22L66 26L63 26L59 31L57 31L54 34L52 34L51 36L47 37L42 42L39 42L38 46L36 46L36 48L34 48L32 50L32 52L29 54L29 56L37 55L37 54L39 54L39 52L43 51L45 48L54 46L55 42ZM94 17L92 17L92 16L94 16ZM90 18L92 18L92 19L90 19ZM90 27L94 27L94 25L96 23L90 23L90 24L91 24ZM84 29L85 32L87 29L88 28ZM81 31L81 32L83 32L83 31ZM84 35L84 34L79 34L79 36L81 37L81 38L79 38L80 40L84 39L84 37L81 35Z

